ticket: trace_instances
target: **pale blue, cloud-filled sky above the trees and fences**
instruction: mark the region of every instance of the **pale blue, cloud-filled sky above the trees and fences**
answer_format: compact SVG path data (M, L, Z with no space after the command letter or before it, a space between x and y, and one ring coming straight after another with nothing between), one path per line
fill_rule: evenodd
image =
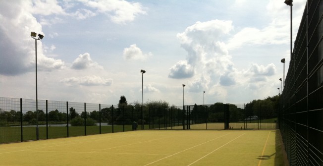
M143 86L144 103L247 104L278 95L290 61L284 0L0 0L0 22L5 98L36 99L31 32L39 100L141 103Z

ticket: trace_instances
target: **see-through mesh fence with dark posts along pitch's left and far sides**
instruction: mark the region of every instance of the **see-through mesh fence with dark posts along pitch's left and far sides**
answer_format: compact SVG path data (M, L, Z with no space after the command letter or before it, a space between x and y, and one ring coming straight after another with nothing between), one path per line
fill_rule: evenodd
M240 108L238 108L240 107ZM275 129L266 107L103 105L0 97L0 143L143 129ZM256 109L256 110L255 110ZM248 118L257 114L257 119Z

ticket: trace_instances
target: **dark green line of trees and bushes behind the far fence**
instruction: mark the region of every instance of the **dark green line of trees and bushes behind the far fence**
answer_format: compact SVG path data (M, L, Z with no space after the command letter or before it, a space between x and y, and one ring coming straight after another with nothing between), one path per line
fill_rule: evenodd
M245 105L245 109L237 108L237 106L233 104L228 105L230 121L241 121L243 118L251 115L258 115L262 118L272 118L277 117L278 114L279 96L268 97L264 100L253 100ZM183 114L181 108L174 105L170 106L168 102L162 100L148 101L142 108L141 103L134 102L128 104L126 98L121 96L116 108L111 106L109 108L104 108L101 111L90 111L85 114L84 111L79 113L71 107L69 108L68 115L66 112L54 110L48 112L47 118L52 124L66 123L67 118L71 121L72 125L73 123L75 123L75 125L84 125L85 118L87 125L95 125L96 122L131 124L133 120L141 124L142 122L147 123L149 120L161 120L160 118L166 116L166 109L171 109L173 111L172 116L176 117L177 120L179 120ZM192 117L192 120L196 121L220 122L224 119L223 109L223 103L215 103L207 107L195 104L191 109L190 116ZM150 117L152 115L153 117ZM36 118L36 111L27 111L22 115L22 121L31 125L36 124ZM39 124L44 123L45 121L46 113L43 110L38 110ZM20 122L20 111L2 111L2 109L0 109L0 126L5 125L8 122Z

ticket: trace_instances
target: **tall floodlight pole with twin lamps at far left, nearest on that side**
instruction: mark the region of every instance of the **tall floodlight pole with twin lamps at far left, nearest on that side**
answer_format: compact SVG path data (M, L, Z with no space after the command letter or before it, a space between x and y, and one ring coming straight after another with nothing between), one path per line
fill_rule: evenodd
M30 37L35 39L35 52L36 52L36 140L39 140L39 130L38 130L38 91L37 91L37 40L41 40L44 38L44 35L38 34L38 38L36 38L37 33L31 32Z

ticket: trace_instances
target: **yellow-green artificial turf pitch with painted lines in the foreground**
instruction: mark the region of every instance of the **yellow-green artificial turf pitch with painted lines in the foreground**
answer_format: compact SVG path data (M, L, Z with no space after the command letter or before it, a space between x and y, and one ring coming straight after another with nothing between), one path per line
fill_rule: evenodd
M0 144L0 166L285 166L279 130L140 130Z

